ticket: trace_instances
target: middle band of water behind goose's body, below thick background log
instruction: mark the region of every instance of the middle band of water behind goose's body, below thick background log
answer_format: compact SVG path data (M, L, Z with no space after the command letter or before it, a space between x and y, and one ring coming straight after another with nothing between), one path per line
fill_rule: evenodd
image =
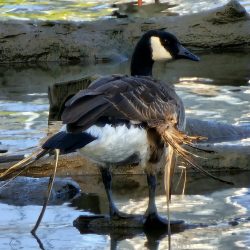
M158 63L154 75L176 84L187 116L250 124L250 53L200 54L201 61ZM237 65L237 67L235 67ZM48 130L47 88L88 74L128 73L129 62L97 65L0 65L0 142L10 153L31 152Z

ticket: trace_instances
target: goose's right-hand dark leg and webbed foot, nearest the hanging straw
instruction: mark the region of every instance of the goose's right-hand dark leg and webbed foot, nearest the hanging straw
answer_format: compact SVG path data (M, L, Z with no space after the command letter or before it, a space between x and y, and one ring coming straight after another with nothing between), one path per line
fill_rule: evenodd
M149 195L149 202L148 202L148 208L146 210L146 213L144 215L145 227L166 227L167 226L167 220L160 217L160 215L157 212L157 208L155 205L155 191L156 191L156 184L157 184L157 178L155 174L147 174L147 182L148 182L148 195Z

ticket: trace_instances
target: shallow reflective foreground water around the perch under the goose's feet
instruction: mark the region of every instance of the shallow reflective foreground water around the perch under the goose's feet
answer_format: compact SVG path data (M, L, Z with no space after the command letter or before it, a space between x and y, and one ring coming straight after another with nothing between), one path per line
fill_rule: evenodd
M119 177L115 177L119 178ZM130 177L131 179L133 177ZM171 218L184 220L188 229L172 235L173 249L248 249L250 247L250 175L224 176L236 185L228 188L204 177L189 176L187 194L172 197ZM87 194L60 206L48 206L37 235L44 249L167 249L166 235L80 234L73 221L80 215L107 213L103 187L96 177L76 176ZM143 214L147 206L145 177L137 176L130 187L116 185L114 198L118 207L128 213ZM199 188L198 188L199 187ZM89 193L91 192L91 193ZM98 195L96 194L98 193ZM163 187L158 187L156 204L166 216ZM29 233L40 212L40 206L14 206L0 203L1 249L39 249ZM158 247L158 248L157 248Z

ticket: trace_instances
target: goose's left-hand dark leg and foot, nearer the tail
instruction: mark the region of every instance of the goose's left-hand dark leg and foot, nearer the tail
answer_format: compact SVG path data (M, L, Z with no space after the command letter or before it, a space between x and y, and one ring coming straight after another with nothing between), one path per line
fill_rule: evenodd
M116 207L113 197L112 197L112 175L109 168L100 168L100 172L102 175L102 182L105 187L105 191L109 201L109 215L111 219L121 219L121 218L128 218L131 217L123 212L120 212L119 209Z

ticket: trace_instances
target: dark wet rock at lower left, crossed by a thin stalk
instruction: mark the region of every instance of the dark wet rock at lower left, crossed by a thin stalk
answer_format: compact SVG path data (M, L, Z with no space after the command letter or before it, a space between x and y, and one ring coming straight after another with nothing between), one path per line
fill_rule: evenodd
M17 177L0 189L0 200L16 206L42 205L47 192L49 178ZM4 181L0 182L2 186ZM80 193L79 185L71 178L56 178L50 205L59 205Z

